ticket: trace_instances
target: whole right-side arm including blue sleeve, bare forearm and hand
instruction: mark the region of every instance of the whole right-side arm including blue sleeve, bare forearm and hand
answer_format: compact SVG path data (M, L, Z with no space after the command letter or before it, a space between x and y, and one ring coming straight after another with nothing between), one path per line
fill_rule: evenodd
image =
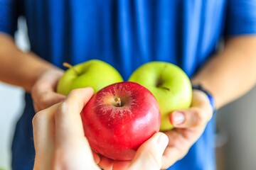
M192 84L201 84L215 98L215 108L239 98L256 82L256 0L228 1L225 13L225 45L213 56ZM224 19L224 18L223 18ZM210 101L203 91L193 90L191 108L174 111L170 121L174 130L166 132L169 145L162 158L167 168L182 159L213 115Z

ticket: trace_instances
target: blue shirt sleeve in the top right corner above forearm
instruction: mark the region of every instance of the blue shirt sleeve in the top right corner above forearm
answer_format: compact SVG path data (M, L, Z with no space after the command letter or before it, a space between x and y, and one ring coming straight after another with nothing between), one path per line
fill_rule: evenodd
M256 0L227 2L225 35L256 34Z

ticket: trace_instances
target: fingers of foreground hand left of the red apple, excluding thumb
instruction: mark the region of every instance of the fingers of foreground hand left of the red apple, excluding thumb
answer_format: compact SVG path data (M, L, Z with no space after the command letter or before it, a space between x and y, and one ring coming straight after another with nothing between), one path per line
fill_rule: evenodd
M33 118L34 169L98 169L80 117L92 94L91 88L71 91L62 103L36 113Z

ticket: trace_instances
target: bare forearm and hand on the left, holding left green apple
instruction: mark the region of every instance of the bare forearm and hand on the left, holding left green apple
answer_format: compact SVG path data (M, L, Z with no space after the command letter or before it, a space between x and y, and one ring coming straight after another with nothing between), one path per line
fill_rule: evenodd
M62 75L63 70L32 52L22 52L16 47L14 38L0 33L0 81L31 92L36 111L65 98L55 93L55 86Z

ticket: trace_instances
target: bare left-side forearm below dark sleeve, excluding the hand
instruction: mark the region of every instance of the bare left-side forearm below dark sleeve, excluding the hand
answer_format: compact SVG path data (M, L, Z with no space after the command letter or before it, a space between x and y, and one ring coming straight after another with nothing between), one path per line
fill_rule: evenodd
M13 38L0 33L0 81L31 91L36 79L48 69L57 69L31 52L18 50Z

